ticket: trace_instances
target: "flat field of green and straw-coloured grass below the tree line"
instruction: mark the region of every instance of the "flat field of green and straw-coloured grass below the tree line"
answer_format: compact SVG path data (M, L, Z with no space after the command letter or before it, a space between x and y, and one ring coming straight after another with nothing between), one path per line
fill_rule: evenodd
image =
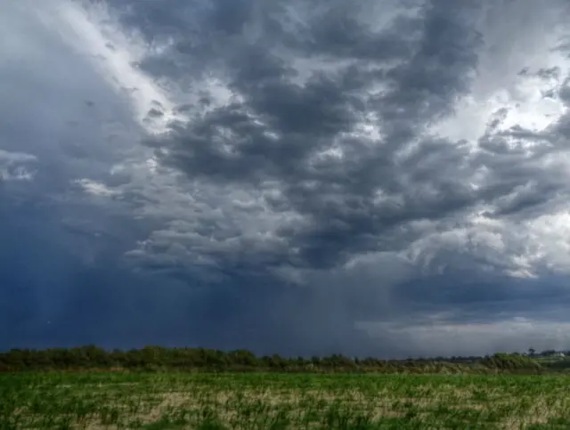
M0 429L570 428L561 375L0 375Z

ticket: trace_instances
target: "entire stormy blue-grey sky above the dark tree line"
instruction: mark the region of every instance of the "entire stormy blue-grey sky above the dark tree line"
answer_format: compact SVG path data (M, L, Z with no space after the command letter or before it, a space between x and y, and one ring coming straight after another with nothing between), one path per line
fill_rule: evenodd
M0 3L0 350L570 349L566 0Z

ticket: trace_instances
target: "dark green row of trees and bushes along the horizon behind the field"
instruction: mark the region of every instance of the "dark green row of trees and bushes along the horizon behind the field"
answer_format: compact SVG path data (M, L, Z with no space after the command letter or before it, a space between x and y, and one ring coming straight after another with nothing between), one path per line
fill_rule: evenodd
M568 364L568 361L565 361ZM558 368L564 368L560 366ZM224 352L206 348L145 346L128 351L107 351L95 345L45 350L12 349L0 353L0 372L49 370L102 371L269 371L269 372L377 372L465 373L542 372L555 366L517 353L485 357L380 360L341 354L324 357L256 356L247 350ZM557 368L557 369L558 369Z

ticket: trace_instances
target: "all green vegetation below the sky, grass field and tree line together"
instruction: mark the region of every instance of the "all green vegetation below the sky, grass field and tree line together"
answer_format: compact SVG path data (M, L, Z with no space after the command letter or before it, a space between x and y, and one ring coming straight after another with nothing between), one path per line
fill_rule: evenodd
M567 429L569 362L12 350L0 354L0 430Z

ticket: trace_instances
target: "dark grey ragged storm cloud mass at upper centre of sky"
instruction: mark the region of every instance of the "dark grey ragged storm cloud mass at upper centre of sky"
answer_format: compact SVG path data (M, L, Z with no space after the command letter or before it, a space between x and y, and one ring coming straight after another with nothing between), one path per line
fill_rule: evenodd
M306 4L297 7L299 13L308 9ZM283 22L284 15L261 7L256 13L246 8L232 14L224 2L216 4L211 28L232 34L238 40L232 48L240 49L213 66L243 101L193 118L153 142L169 150L164 163L191 178L243 186L280 183L282 199L268 203L307 220L297 231L281 231L290 247L299 248L291 264L332 267L353 253L377 249L376 238L399 224L442 218L477 198L460 183L465 156L460 145L427 138L419 150L395 161L397 150L409 146L430 121L452 113L453 102L468 91L481 46L470 20L477 7L429 2L418 16L398 17L380 30L359 20L366 7L322 7L322 12L309 14L308 34L280 34L281 45L273 51L265 37L240 43L247 38L243 28L270 20L270 15ZM272 37L270 33L268 39ZM352 62L331 72L314 72L299 84L298 70L280 56L285 49L307 58L318 54ZM378 118L382 138L348 136L370 113ZM345 158L312 160L335 140ZM430 157L438 164L430 163ZM417 168L420 159L426 161ZM444 163L446 179L435 175ZM407 174L410 166L414 168ZM429 196L414 188L428 189ZM378 191L401 203L373 203Z

